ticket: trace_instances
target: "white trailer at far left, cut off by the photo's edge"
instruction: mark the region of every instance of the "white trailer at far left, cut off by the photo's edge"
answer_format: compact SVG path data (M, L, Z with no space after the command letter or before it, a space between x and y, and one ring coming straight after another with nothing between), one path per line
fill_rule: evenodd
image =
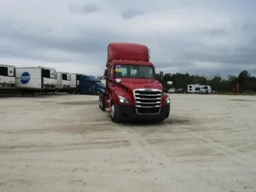
M15 67L0 64L0 93L15 90Z

